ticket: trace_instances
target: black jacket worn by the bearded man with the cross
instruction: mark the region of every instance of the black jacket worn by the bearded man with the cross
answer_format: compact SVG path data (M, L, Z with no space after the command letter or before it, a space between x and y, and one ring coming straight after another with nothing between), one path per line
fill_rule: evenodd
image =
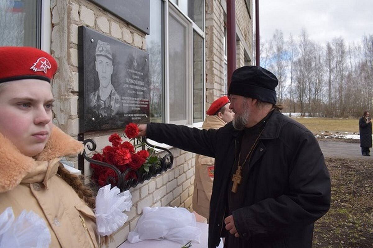
M147 126L148 138L215 158L209 248L219 244L223 233L227 184L242 134L232 123L208 131L162 123ZM313 134L275 110L248 166L245 206L233 211L245 247L311 248L313 224L330 206L330 177Z

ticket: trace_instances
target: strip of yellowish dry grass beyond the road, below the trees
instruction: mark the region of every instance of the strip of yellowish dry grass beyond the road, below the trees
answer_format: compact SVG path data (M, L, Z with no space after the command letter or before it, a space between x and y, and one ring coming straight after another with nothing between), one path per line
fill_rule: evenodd
M359 133L359 120L358 119L329 119L329 118L293 118L297 122L302 123L314 134L319 134L321 132L349 132L349 133Z

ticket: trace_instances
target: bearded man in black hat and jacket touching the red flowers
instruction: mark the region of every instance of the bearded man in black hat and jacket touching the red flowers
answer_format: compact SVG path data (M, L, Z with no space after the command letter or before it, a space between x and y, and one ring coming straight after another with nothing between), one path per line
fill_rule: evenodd
M330 177L313 134L280 113L278 80L245 66L228 90L233 122L199 130L140 125L140 136L215 158L209 248L311 248L314 222L330 207Z

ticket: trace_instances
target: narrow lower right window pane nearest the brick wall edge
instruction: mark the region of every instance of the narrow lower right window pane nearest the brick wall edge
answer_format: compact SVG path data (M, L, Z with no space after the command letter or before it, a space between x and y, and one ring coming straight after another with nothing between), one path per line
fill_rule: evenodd
M203 38L193 31L193 122L203 121Z

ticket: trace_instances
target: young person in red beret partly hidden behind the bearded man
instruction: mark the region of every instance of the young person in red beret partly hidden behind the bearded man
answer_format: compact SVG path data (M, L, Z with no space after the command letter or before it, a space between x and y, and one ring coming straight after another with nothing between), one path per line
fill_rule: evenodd
M208 116L204 120L202 128L206 130L219 129L231 122L234 113L229 109L229 104L227 96L215 100L207 110ZM214 181L214 161L214 158L204 155L196 155L195 157L193 210L207 218L207 222L209 221L210 199Z

